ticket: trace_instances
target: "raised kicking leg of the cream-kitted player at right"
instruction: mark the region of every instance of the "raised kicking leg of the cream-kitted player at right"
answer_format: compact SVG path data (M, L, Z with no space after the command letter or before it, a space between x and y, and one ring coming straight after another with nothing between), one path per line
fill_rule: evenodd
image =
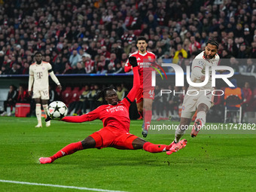
M211 105L209 103L209 105ZM190 133L191 137L196 137L203 125L206 124L206 113L209 111L209 106L205 103L200 103L197 106L197 118L194 123L193 130Z

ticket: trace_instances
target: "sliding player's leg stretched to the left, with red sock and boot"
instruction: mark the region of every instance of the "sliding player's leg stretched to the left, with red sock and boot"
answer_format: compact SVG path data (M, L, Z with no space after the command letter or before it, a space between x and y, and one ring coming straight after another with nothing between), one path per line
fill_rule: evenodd
M93 139L93 137L88 136L81 142L74 142L69 145L66 145L65 148L62 148L60 151L56 152L56 154L53 154L53 156L51 157L41 157L39 161L41 164L53 163L54 160L60 157L64 157L69 154L74 154L76 151L81 151L83 149L94 148L95 146L96 141Z

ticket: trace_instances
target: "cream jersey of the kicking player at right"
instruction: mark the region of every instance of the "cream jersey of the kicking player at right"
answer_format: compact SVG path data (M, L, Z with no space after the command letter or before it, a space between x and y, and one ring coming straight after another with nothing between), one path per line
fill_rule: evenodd
M200 54L198 54L195 59L192 62L192 72L191 72L191 81L194 83L202 83L199 78L194 74L194 69L195 68L200 68L202 69L203 75L206 75L206 66L209 66L209 81L208 83L203 86L203 87L193 87L190 86L189 89L193 90L212 90L212 66L218 66L220 56L216 53L215 57L212 59L206 59L206 56L204 56L205 51L202 51Z

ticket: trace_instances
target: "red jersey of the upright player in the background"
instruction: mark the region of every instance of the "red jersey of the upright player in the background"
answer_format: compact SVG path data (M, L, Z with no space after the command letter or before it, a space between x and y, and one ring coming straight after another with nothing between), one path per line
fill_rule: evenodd
M139 53L137 50L135 53L132 53L130 56L136 56L138 66L139 66L139 78L141 88L143 87L151 87L151 72L154 70L150 66L152 66L151 62L156 61L156 56L154 53L150 51L146 51L145 54ZM124 66L124 72L131 71L131 64L129 59L127 59L126 65Z

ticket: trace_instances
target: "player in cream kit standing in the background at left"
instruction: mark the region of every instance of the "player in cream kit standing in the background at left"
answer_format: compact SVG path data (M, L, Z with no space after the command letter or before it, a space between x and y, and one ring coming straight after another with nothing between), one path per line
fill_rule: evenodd
M38 119L38 124L35 127L42 126L41 104L43 105L46 114L48 111L49 75L61 90L62 87L59 84L59 80L54 75L50 63L42 61L41 53L35 53L35 62L29 66L29 96L32 96L32 99L35 99L35 114ZM46 126L50 126L50 121L47 121Z

